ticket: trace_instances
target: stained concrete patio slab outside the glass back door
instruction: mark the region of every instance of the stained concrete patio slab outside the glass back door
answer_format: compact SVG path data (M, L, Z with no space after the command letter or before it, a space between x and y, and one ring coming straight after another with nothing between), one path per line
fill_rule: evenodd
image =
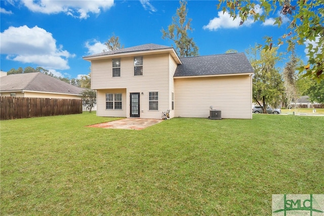
M142 130L146 127L160 123L163 120L160 119L120 119L112 122L105 122L95 125L89 125L87 127L97 128L115 128L115 129L129 129L129 130Z

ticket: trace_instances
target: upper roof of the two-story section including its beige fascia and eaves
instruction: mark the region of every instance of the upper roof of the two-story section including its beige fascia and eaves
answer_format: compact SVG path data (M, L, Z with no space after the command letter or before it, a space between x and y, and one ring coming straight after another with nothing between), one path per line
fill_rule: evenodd
M172 57L176 60L178 64L181 64L180 58L178 57L176 51L173 47L168 47L164 45L158 44L144 44L135 47L129 47L124 49L112 50L108 52L102 52L94 55L89 55L83 57L83 59L91 61L93 59L98 58L107 58L111 56L119 56L119 55L135 55L136 53L143 54L143 53L151 53L151 52L167 52L172 55Z

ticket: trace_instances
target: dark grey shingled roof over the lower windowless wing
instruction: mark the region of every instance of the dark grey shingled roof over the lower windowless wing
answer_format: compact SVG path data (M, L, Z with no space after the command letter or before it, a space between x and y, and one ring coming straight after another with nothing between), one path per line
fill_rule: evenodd
M254 73L244 53L180 58L174 77Z

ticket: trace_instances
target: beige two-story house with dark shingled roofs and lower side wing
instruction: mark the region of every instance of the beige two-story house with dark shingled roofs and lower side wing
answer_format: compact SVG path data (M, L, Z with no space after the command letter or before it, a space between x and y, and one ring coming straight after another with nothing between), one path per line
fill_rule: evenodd
M179 58L173 47L146 44L84 57L91 62L97 115L159 119L252 119L252 74L244 53Z

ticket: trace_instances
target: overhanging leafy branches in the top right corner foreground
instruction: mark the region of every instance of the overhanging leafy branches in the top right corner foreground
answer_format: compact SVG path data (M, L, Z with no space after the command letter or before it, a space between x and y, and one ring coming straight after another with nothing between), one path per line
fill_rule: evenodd
M226 6L224 6L226 4ZM254 21L262 21L279 12L290 18L287 34L282 35L277 41L278 45L288 44L288 51L294 50L296 44L307 45L308 64L299 67L305 76L311 79L324 79L324 0L260 0L258 2L244 0L220 0L218 8L223 7L223 12L229 11L231 17L240 18L243 24L250 16ZM262 13L258 13L262 11ZM277 13L277 14L279 14ZM282 17L275 18L274 24L280 27L284 21ZM265 50L271 50L273 41L266 38ZM314 46L315 44L315 46Z

